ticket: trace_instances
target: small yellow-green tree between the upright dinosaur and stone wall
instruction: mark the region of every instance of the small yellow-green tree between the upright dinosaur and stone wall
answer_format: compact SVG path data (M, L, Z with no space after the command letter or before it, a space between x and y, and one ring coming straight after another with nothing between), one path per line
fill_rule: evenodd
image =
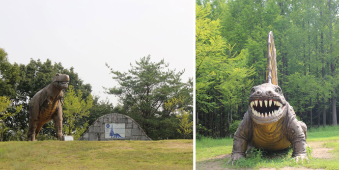
M93 97L89 94L86 100L83 99L81 90L76 92L73 90L73 85L68 86L65 94L63 116L65 117L65 124L63 130L66 135L73 135L77 140L85 132L88 121L78 124L79 119L89 116L89 109L93 106Z

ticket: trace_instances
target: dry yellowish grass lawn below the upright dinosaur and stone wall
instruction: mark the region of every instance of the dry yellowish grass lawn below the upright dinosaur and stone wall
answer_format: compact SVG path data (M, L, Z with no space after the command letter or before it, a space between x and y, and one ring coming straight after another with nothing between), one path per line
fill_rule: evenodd
M193 169L193 140L0 142L0 169Z

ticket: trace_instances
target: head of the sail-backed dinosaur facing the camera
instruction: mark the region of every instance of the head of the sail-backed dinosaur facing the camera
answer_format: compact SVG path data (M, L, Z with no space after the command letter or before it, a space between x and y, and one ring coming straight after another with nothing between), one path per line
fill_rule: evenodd
M271 124L286 114L286 100L278 85L254 86L249 98L249 114L257 124Z

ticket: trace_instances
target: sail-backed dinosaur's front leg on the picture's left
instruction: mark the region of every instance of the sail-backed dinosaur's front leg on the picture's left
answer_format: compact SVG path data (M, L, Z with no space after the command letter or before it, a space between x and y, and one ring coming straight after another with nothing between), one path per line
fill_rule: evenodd
M245 113L244 119L241 121L234 134L232 155L227 164L232 162L233 165L235 160L246 157L246 149L251 139L251 133L249 133L251 129L250 118L248 113Z

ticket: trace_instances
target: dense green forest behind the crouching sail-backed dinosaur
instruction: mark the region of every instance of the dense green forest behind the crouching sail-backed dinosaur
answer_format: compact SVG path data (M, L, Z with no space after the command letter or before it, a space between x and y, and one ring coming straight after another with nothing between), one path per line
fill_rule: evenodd
M197 138L235 132L250 88L265 83L269 31L279 86L298 119L337 126L338 9L338 0L197 0Z

